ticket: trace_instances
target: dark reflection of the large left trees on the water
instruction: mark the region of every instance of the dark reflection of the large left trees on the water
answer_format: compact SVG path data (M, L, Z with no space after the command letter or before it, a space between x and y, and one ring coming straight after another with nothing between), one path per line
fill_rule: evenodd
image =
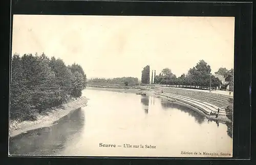
M31 130L10 138L10 154L54 155L65 148L67 140L79 137L83 125L84 112L79 108L51 127Z

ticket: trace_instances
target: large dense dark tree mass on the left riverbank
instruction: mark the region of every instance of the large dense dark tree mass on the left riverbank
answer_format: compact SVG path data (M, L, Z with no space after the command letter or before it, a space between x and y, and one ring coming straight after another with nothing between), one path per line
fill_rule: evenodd
M11 119L33 120L39 113L81 96L87 77L79 64L66 66L61 59L14 54L11 61Z

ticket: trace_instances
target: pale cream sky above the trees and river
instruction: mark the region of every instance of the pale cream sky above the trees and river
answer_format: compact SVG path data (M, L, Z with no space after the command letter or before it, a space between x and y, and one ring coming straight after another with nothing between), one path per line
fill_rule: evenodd
M204 60L233 68L234 17L14 15L12 55L44 52L88 78L137 77L150 65L179 77Z

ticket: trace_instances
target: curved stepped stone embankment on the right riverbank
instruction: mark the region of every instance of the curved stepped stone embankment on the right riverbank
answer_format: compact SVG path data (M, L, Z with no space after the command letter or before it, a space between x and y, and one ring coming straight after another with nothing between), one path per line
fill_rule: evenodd
M155 95L166 98L167 100L176 100L199 109L203 114L215 120L231 122L232 109L227 110L230 106L229 99L231 97L216 93L207 93L193 90L185 90L178 88L165 88L164 92L155 91ZM216 113L220 112L216 118Z

